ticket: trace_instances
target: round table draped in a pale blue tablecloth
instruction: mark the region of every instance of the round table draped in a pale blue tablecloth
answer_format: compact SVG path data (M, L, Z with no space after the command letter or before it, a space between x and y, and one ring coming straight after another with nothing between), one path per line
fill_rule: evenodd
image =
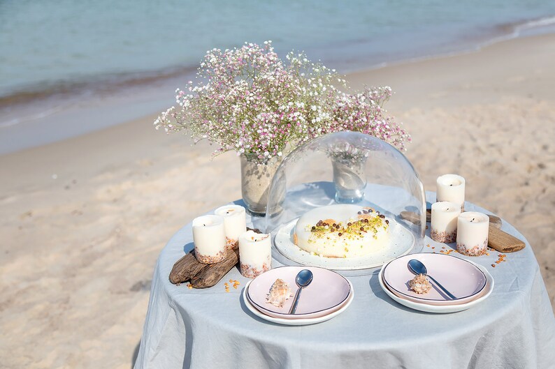
M435 193L426 197L435 199ZM247 223L252 226L248 216ZM154 269L135 368L554 368L555 317L538 262L517 229L505 221L502 229L526 248L507 254L496 268L496 251L470 258L495 280L491 296L473 308L451 314L405 308L382 291L376 269L347 277L355 295L342 314L319 324L282 326L247 309L241 292L248 279L236 268L208 289L169 282L173 264L192 249L189 223ZM444 245L430 239L429 229L424 241ZM280 264L273 260L273 266ZM240 285L226 292L230 279Z

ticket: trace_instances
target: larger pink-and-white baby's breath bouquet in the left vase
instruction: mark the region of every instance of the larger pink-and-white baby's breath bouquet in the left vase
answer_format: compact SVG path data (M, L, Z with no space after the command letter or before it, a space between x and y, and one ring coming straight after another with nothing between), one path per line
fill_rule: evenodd
M266 41L206 53L177 107L154 121L167 132L187 129L195 142L217 144L215 153L236 151L257 164L280 158L329 126L337 90L335 70L291 52L282 61Z

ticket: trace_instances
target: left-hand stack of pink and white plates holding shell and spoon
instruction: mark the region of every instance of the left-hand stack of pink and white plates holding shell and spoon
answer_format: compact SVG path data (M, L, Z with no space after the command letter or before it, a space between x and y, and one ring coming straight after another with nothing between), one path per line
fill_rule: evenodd
M298 289L295 277L303 269L310 270L313 279L301 292L295 314L289 314L293 296L281 307L267 302L268 292L278 278L289 285L291 294L294 295ZM245 305L254 315L269 322L287 325L325 322L345 311L353 296L354 291L349 280L334 271L315 266L282 266L271 269L251 280L243 289Z

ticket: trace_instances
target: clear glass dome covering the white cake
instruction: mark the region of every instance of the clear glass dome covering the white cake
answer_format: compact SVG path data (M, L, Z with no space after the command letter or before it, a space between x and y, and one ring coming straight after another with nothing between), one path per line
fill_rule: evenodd
M382 217L389 225L385 246L354 257L326 257L297 246L297 234L303 232L297 225L300 218L335 219L345 212L354 219L366 213ZM272 235L273 257L284 265L321 266L346 275L368 273L421 250L425 229L426 197L415 168L394 146L363 133L329 133L299 146L284 158L268 191L266 233Z

